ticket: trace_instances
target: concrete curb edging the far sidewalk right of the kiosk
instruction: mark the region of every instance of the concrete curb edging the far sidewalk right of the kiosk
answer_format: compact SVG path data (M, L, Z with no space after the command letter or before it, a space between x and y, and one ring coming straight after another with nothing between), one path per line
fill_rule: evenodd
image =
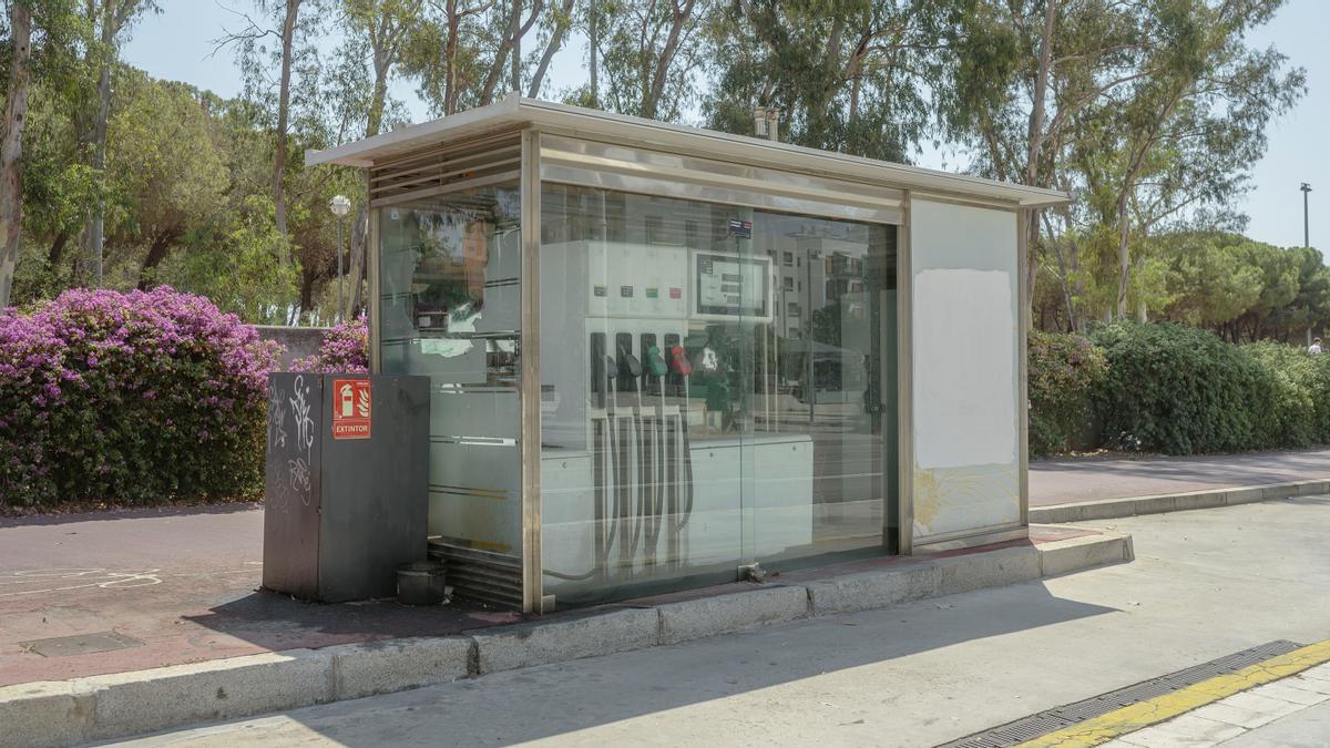
M1250 504L1270 499L1315 496L1319 494L1330 494L1330 480L1294 480L1290 483L1270 483L1266 486L1208 488L1204 491L1189 491L1185 494L1158 494L1156 496L1132 496L1127 499L1104 499L1099 502L1076 502L1049 507L1029 507L1029 522L1037 524L1063 524L1067 522L1119 519L1123 516L1136 516L1141 514L1162 514L1168 511Z

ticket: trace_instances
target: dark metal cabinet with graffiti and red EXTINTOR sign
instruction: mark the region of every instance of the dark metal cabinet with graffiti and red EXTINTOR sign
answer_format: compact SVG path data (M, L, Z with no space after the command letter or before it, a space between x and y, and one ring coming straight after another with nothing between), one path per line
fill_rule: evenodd
M427 377L271 374L263 587L394 596L398 564L426 558L428 447Z

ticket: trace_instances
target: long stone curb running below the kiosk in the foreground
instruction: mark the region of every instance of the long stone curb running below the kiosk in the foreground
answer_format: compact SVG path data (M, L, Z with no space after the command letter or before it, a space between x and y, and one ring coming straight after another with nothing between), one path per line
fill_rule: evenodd
M24 683L0 687L0 725L4 740L19 745L108 740L1003 587L1130 559L1130 535L1101 534L460 636L290 650Z

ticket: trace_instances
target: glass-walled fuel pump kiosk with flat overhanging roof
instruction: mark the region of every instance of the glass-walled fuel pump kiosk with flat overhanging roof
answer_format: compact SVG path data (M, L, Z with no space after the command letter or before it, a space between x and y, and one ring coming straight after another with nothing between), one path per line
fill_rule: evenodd
M1025 536L1021 229L1064 193L519 96L306 161L366 172L371 370L430 379L455 594Z

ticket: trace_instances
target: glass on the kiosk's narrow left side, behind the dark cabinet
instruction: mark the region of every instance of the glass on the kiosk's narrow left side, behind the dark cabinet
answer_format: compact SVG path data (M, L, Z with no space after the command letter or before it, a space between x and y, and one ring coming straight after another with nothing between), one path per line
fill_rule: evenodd
M520 554L517 185L376 209L379 354L431 379L430 535Z

